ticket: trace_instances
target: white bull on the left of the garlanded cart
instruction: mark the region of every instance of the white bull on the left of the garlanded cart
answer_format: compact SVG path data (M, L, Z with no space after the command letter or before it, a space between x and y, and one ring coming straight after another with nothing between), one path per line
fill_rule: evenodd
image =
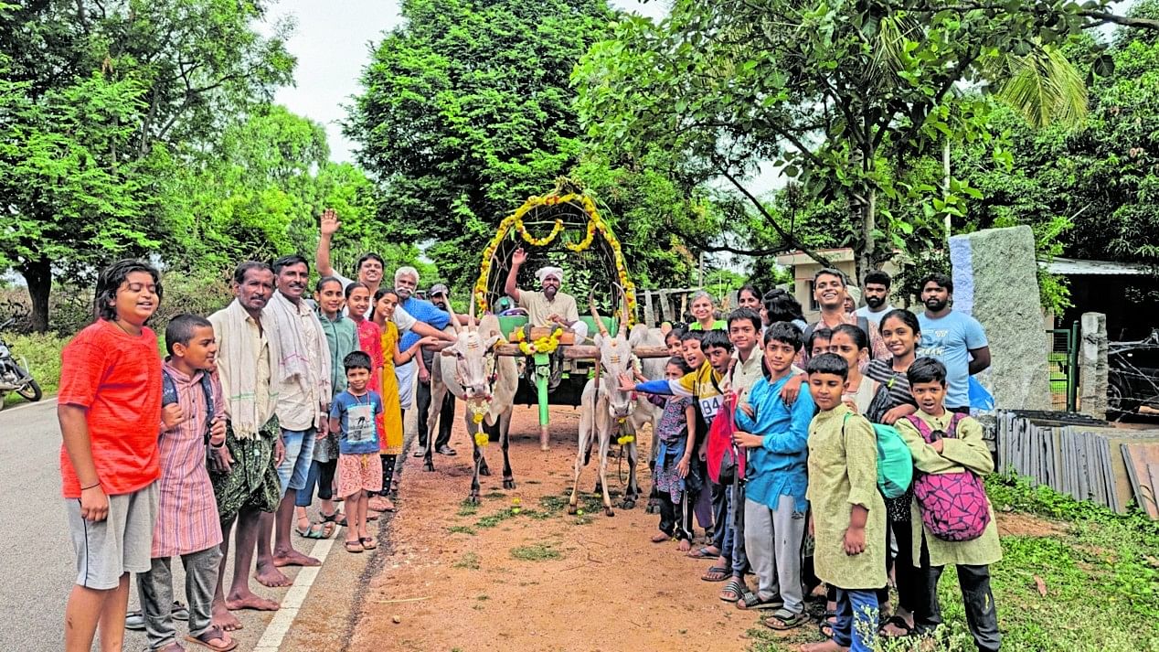
M498 429L500 448L503 449L503 488L515 487L511 459L508 456L508 430L511 426L511 406L519 383L518 369L513 357L495 353L495 345L503 338L496 317L486 316L478 326L460 327L458 318L451 311L451 325L454 327L457 340L444 348L440 355L435 356L436 364L431 370L431 406L427 416L427 441L435 441L443 398L450 391L467 407L464 422L467 425L467 433L471 434L474 462L471 494L467 500L478 502L479 476L490 474L482 447L475 440L481 426L491 432ZM435 470L431 456L433 449L433 445L427 447L423 464L427 471Z

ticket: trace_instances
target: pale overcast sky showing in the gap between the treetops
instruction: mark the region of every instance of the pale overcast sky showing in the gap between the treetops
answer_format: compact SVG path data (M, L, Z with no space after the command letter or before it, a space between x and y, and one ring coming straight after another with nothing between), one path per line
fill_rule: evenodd
M611 0L611 5L646 16L659 17L663 0ZM298 57L296 86L278 90L276 101L291 111L326 125L330 158L353 161L355 144L342 136L344 106L357 94L358 77L370 61L373 45L399 22L399 3L382 0L280 0L270 16L292 16L297 22L289 41Z

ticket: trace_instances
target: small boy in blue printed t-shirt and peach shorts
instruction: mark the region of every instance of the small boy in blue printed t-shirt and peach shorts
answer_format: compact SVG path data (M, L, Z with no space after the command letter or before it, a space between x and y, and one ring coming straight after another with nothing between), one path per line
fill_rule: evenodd
M342 361L347 389L334 397L330 430L338 433L338 495L347 502L347 551L378 548L366 530L366 493L382 488L376 415L382 399L371 390L370 356L356 350Z

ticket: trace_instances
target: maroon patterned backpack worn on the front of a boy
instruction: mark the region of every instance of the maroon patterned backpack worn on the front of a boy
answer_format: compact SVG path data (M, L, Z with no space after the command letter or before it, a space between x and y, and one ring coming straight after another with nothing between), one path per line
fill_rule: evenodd
M965 415L955 413L946 439L957 437L957 422ZM930 425L916 414L906 416L921 433L926 443L933 441ZM974 541L990 524L990 501L982 478L967 469L958 473L921 473L913 477L913 497L921 508L921 523L942 541Z

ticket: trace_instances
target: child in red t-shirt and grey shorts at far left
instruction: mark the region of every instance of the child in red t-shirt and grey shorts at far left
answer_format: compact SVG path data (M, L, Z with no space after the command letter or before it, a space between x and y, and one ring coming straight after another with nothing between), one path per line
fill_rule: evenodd
M65 650L124 643L129 573L150 570L156 487L156 433L180 420L161 413L161 357L145 321L161 300L151 266L122 260L101 271L97 320L60 354L57 415L60 476L76 553L76 584L65 608Z

